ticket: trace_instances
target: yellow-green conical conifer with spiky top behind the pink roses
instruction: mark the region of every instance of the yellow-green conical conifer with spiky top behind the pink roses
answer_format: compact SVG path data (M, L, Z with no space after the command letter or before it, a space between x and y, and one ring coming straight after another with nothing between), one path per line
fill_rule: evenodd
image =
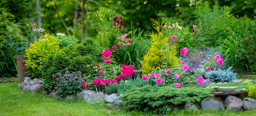
M144 74L149 74L149 72L152 71L152 68L157 68L158 66L163 68L164 65L167 65L165 68L172 68L175 65L178 65L178 58L176 57L177 45L171 45L167 37L162 37L163 29L160 30L160 27L163 23L161 25L158 24L160 18L158 17L158 21L152 19L154 22L153 25L158 33L150 33L150 37L154 42L151 42L152 45L149 48L149 51L146 52L141 61L141 70ZM169 37L169 39L171 38ZM163 62L166 64L163 64Z

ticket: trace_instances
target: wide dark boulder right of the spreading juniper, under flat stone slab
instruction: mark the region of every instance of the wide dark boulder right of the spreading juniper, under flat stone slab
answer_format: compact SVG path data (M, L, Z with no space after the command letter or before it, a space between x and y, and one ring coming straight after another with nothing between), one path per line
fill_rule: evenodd
M219 99L217 97L210 97L210 98L205 98L201 102L201 108L203 110L210 110L213 109L215 111L217 110L223 110L224 111L224 105L222 99Z

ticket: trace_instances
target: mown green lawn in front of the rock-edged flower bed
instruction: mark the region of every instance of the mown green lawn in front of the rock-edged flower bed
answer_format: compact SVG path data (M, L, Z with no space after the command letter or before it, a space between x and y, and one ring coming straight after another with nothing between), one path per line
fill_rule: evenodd
M0 84L0 116L156 116L151 112L117 111L105 104L86 101L53 99L49 95L29 94L17 89L17 82ZM173 111L169 116L255 116L256 110L231 111Z

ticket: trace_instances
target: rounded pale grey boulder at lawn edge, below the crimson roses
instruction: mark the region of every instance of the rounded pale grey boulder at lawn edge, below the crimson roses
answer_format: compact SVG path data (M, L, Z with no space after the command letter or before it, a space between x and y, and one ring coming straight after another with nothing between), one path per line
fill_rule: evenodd
M90 95L90 97L88 98L88 101L90 103L101 104L101 103L104 103L104 99L105 99L105 96L104 96L103 92L98 92L98 93Z

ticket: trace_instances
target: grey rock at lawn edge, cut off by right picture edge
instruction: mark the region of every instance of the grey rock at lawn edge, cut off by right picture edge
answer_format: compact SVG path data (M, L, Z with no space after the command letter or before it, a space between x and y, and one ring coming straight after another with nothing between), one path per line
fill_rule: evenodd
M243 109L244 110L253 110L256 109L256 100L250 97L246 97L243 100Z

